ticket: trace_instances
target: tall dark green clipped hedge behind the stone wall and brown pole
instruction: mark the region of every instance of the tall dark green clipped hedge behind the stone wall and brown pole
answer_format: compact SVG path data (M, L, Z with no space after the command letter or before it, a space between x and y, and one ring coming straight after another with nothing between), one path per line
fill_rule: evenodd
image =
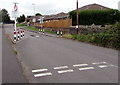
M70 17L72 18L72 24L76 25L76 11L71 11ZM114 24L120 21L120 11L110 10L83 10L79 11L79 24L81 25L106 25Z

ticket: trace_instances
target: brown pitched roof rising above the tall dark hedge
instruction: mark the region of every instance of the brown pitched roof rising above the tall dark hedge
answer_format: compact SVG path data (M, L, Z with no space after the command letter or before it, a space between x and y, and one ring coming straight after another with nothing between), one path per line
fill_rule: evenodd
M96 4L96 3L79 8L79 10L108 10L108 9L110 8Z

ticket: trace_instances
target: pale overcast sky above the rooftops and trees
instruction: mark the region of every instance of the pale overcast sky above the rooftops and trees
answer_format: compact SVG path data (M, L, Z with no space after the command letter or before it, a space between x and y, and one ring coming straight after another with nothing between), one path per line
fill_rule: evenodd
M79 7L89 4L100 4L109 8L118 9L118 2L120 0L78 0ZM35 12L42 15L56 14L60 12L68 12L76 9L76 0L0 0L0 8L7 9L10 16L13 10L14 4L17 2L19 15L25 14L33 15L33 5L35 4Z

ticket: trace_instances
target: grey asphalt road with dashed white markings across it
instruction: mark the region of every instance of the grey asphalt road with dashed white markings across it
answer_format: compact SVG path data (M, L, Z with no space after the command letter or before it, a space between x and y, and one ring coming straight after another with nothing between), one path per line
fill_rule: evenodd
M6 32L12 37L12 25ZM118 82L117 50L29 31L15 47L31 83Z

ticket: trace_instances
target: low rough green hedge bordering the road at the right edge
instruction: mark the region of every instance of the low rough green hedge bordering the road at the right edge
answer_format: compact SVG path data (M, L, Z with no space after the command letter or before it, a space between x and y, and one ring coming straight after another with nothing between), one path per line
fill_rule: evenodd
M120 48L120 22L103 33L72 35L75 40L93 43L103 47Z

